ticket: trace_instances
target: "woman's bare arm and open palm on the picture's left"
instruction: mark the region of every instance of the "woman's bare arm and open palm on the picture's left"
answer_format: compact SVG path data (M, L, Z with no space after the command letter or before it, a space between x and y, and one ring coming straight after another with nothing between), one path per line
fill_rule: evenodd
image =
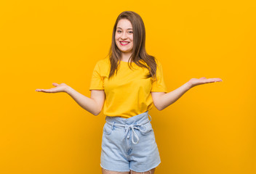
M78 91L74 90L70 86L67 86L65 83L58 85L57 83L52 83L56 88L50 89L36 89L36 91L56 93L56 92L66 92L70 95L80 107L86 109L88 112L93 115L99 115L103 104L105 101L105 91L104 90L92 90L91 98L80 94Z

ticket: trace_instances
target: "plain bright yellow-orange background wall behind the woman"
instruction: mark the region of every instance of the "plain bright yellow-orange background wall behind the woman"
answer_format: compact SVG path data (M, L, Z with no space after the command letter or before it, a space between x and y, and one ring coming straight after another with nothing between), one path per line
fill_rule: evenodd
M146 50L168 91L196 86L149 112L159 146L156 174L256 173L255 1L1 1L0 173L100 173L105 116L65 93L89 96L93 67L108 54L116 17L145 22Z

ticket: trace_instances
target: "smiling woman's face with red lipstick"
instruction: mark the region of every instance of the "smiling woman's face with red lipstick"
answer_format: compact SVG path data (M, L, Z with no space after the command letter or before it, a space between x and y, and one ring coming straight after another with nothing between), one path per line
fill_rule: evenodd
M133 30L132 24L127 19L121 19L116 25L116 46L124 53L132 52Z

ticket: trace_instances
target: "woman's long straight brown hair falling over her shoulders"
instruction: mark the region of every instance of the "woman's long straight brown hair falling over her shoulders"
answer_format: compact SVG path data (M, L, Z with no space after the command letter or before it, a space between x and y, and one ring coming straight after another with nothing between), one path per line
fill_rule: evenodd
M142 18L139 14L132 12L132 11L124 11L119 14L116 19L116 23L113 27L112 33L112 43L111 49L109 50L109 60L111 63L111 70L109 72L108 78L111 78L114 73L117 73L117 70L120 65L121 60L121 51L116 46L115 36L116 36L116 25L118 24L119 20L127 19L132 24L133 30L133 48L132 48L132 55L129 57L129 68L130 65L132 66L132 62L135 62L136 65L139 67L145 67L149 70L148 75L145 75L145 78L156 78L156 58L148 55L145 51L145 26ZM143 62L145 64L143 64Z

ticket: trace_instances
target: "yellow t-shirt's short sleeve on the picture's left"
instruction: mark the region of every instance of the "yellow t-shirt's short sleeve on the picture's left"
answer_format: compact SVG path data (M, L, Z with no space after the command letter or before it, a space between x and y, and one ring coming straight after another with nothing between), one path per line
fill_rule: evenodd
M89 86L89 90L101 90L104 89L104 80L103 77L100 75L100 65L99 62L96 63L95 68L92 72L92 79Z

